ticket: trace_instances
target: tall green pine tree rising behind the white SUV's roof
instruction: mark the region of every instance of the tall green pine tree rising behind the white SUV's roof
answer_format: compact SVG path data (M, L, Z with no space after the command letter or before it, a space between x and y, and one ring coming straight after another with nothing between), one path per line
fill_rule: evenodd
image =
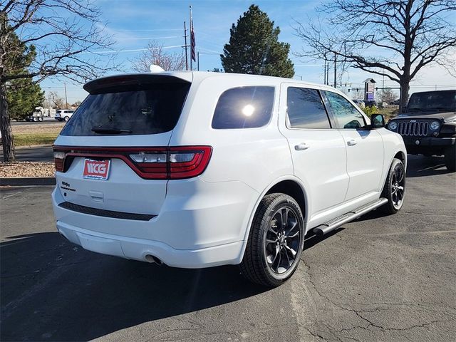
M294 66L289 59L290 44L279 42L280 28L251 5L237 25L232 25L229 43L225 44L222 66L227 73L252 73L291 78Z

